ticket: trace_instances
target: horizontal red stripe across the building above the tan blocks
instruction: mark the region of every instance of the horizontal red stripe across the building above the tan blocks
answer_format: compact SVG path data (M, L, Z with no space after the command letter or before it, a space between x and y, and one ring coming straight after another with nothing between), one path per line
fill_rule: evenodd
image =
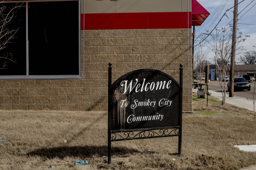
M185 29L191 18L191 12L81 14L81 30Z

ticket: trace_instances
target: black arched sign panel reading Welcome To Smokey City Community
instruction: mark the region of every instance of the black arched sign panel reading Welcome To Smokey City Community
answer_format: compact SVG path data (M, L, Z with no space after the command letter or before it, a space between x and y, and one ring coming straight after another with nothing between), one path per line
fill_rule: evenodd
M178 125L179 84L167 74L142 69L112 85L112 130Z

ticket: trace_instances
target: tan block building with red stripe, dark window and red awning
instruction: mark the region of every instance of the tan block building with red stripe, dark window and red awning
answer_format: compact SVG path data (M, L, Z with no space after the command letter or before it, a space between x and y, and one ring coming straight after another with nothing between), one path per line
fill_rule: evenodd
M113 81L158 69L179 81L183 111L192 111L192 25L209 15L196 0L4 0L22 7L0 54L0 109L107 111ZM7 55L6 55L7 57ZM11 59L12 61L10 61Z

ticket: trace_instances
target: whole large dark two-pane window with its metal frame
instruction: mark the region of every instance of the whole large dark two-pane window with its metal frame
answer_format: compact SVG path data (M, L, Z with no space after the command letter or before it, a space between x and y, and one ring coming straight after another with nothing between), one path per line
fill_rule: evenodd
M16 3L5 3L8 8ZM79 1L18 3L9 30L18 30L0 50L2 78L79 78ZM7 56L8 55L8 56Z

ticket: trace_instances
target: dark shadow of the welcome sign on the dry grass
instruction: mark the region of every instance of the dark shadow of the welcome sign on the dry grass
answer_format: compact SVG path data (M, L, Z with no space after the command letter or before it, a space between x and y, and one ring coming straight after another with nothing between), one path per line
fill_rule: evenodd
M73 146L73 147L56 147L56 148L41 148L31 152L28 152L27 156L41 156L48 159L59 158L64 159L65 157L92 157L94 155L107 156L107 146ZM113 147L111 155L125 155L139 152L137 149L127 147Z

